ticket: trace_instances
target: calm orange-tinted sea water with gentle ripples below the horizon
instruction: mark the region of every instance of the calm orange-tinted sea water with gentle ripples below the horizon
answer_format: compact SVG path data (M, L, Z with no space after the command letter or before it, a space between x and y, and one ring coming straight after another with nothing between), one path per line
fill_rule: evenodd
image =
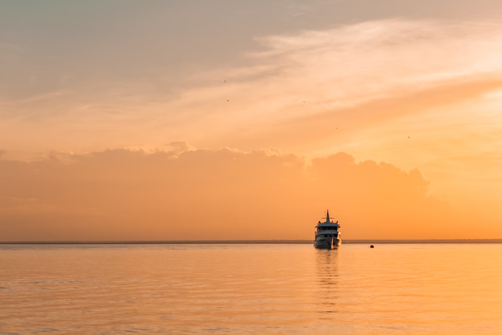
M502 334L502 245L0 246L0 334Z

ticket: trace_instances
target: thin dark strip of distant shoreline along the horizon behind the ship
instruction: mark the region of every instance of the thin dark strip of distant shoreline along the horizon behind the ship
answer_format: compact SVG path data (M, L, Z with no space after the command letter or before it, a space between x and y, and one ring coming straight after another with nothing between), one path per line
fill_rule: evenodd
M312 244L311 240L233 240L233 241L5 241L0 245L79 245L79 244ZM343 244L453 244L502 243L502 239L452 240L343 240Z

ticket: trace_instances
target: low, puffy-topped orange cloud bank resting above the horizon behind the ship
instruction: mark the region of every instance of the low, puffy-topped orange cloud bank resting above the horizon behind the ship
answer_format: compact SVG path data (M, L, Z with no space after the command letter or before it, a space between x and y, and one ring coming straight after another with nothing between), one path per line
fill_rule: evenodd
M180 145L185 146L185 144ZM113 149L0 160L0 235L20 240L311 239L328 208L345 239L493 238L429 194L418 170L307 160L274 150L147 153ZM465 213L461 213L462 215Z

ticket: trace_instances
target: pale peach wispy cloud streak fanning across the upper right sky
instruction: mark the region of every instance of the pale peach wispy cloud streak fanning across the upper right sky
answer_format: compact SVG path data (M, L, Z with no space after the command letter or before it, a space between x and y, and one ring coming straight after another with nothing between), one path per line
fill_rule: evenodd
M232 128L267 127L502 76L498 23L383 20L257 41L265 50L248 54L255 65L220 70L220 78L231 80L186 91L174 105ZM385 116L386 110L372 113Z

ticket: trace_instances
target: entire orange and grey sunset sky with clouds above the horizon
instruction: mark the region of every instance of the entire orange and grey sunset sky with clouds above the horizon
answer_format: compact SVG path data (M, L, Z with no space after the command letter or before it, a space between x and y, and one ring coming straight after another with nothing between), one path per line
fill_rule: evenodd
M0 241L502 239L494 0L0 2Z

